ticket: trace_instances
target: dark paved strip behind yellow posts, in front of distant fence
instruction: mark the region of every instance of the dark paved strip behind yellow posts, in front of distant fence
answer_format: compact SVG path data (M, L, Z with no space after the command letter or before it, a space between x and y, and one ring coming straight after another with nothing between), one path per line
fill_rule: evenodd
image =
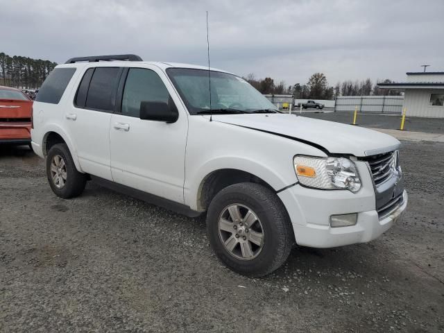
M299 113L296 114L299 115ZM302 116L337 121L338 123L353 122L353 112L302 112ZM358 126L397 130L401 126L401 116L400 114L371 114L358 112L356 123ZM444 118L406 117L404 130L442 134L444 133Z

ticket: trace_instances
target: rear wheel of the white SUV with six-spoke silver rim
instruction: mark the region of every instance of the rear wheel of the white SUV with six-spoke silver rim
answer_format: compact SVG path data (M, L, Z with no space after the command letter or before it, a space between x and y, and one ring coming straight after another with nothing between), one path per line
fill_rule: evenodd
M59 164L57 161L60 161ZM56 170L51 171L51 167L56 167ZM56 176L54 172L57 172ZM77 171L66 144L55 144L49 149L46 156L46 176L54 194L65 199L80 196L87 181L85 173Z

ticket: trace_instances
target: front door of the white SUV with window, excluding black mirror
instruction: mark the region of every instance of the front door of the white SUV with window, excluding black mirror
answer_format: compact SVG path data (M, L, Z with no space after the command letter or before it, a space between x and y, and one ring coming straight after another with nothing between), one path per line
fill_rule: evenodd
M179 110L174 123L139 119L142 101L179 105L178 96L167 76L155 66L129 68L125 76L119 88L121 108L111 117L112 177L123 185L183 203L188 130L185 112Z

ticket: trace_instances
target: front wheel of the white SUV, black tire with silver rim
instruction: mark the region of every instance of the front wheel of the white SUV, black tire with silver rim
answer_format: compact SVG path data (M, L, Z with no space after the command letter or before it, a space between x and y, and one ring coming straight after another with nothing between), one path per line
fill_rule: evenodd
M248 211L253 212L250 219L246 219ZM239 212L241 219L237 223L232 212ZM267 275L282 266L295 242L287 210L278 196L271 189L251 182L230 185L214 196L207 212L207 233L221 262L232 271L250 277Z

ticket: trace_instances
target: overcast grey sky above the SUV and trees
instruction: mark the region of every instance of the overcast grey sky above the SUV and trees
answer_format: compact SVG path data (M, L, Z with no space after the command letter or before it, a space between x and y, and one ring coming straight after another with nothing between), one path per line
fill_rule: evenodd
M444 1L0 0L0 51L65 62L135 53L287 85L444 70Z

